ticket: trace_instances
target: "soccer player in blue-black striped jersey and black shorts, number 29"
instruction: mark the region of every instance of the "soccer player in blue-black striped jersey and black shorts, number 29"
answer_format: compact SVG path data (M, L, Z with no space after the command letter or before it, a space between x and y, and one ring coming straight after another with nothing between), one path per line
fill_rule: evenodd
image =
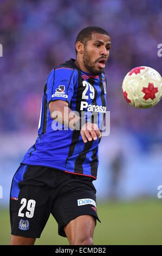
M44 87L38 137L14 175L11 245L34 245L50 213L70 245L93 245L98 145L106 112L103 72L111 38L99 27L77 35L76 60L56 66Z

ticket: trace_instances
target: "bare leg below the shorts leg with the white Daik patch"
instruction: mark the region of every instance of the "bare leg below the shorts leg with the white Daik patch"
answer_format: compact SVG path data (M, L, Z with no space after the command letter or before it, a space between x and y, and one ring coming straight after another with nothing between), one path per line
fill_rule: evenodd
M70 221L64 227L70 245L92 245L95 225L95 218L90 215L81 215Z

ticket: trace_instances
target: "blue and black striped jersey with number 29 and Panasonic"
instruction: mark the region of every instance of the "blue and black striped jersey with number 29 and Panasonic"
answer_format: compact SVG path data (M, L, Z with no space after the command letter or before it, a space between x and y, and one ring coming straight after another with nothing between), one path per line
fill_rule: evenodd
M38 137L21 163L57 168L96 179L100 139L84 143L79 130L64 127L51 119L48 108L51 101L67 101L80 116L84 113L85 119L91 118L93 122L96 116L101 130L106 113L105 74L92 76L80 70L74 62L70 59L50 72L44 87Z

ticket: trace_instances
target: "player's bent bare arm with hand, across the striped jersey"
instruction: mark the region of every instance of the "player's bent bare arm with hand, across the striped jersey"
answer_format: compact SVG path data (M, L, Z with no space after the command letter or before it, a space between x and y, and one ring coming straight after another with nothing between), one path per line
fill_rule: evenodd
M49 103L50 116L59 123L64 124L72 129L80 129L83 142L96 140L101 137L99 127L96 124L86 122L75 114L68 107L68 102L63 100L55 100Z

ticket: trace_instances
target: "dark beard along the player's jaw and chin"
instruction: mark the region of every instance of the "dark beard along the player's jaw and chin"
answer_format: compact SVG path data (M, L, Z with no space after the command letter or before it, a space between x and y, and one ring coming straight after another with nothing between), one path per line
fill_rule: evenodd
M83 64L85 65L85 68L89 71L89 73L92 75L100 75L103 71L103 69L95 69L95 62L92 62L90 60L86 47L83 53Z

